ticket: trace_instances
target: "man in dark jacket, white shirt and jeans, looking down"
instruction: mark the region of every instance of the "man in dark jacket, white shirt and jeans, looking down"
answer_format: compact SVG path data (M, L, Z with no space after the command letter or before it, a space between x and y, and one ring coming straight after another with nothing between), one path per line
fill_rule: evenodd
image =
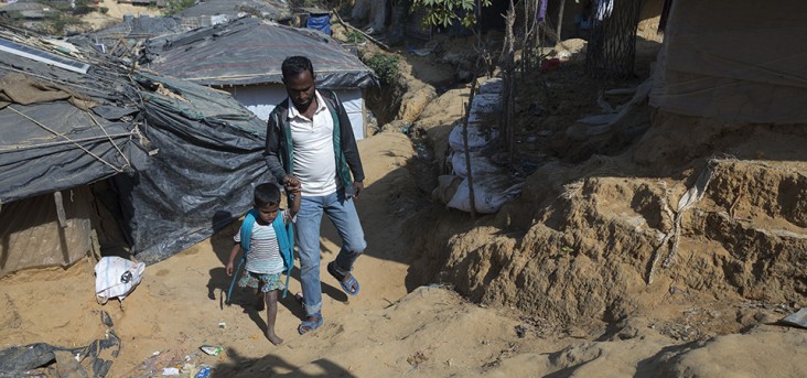
M283 61L281 71L289 97L269 115L263 155L278 182L287 185L293 175L302 184L297 236L306 318L298 332L304 334L323 323L320 284L323 213L342 239L342 249L327 264L327 271L347 294L358 294L358 281L351 271L367 242L353 199L364 190L364 171L345 108L335 94L315 88L316 75L311 61L290 56Z

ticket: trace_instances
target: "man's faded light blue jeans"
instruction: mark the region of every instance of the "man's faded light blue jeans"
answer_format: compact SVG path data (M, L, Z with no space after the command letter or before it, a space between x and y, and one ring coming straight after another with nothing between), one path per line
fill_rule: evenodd
M353 270L353 262L367 248L364 230L352 198L344 191L323 196L302 196L297 214L297 241L300 255L300 283L303 290L305 313L320 313L322 285L320 283L320 225L322 213L331 219L342 239L342 249L336 255L336 267L343 271Z

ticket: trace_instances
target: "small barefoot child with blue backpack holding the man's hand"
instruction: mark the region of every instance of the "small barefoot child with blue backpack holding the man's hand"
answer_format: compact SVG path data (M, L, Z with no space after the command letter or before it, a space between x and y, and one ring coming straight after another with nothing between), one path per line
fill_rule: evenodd
M244 276L238 280L238 287L257 291L258 311L266 303L266 337L275 345L283 343L275 333L275 321L278 316L278 291L286 288L280 281L280 274L286 271L288 284L288 274L294 264L291 255L294 238L289 231L294 215L300 209L300 181L291 177L286 188L293 197L288 210L279 209L280 188L277 185L266 183L255 187L255 208L247 213L234 237L235 244L226 268L227 276L232 277L233 260L239 251L245 250L247 266Z

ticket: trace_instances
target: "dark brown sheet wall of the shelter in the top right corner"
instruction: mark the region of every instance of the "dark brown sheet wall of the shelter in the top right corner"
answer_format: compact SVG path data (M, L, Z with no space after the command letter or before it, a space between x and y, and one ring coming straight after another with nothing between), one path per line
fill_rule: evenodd
M742 122L807 122L807 2L672 2L650 105Z

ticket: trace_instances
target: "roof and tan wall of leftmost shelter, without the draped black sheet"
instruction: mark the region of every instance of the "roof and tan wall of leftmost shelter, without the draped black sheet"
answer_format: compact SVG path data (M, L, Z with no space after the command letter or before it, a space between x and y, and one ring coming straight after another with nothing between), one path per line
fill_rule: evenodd
M137 89L60 41L0 29L0 276L90 247L87 184L143 166Z

